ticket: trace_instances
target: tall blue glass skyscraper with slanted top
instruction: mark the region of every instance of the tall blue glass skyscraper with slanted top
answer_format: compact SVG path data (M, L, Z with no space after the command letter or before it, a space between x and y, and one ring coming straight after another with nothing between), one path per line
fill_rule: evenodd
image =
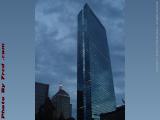
M99 119L116 100L106 30L85 4L78 14L77 120Z

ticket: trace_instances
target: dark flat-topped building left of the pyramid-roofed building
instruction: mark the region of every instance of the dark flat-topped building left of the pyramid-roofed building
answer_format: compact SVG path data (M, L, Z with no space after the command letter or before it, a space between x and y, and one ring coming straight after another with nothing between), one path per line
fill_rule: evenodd
M35 113L38 112L41 105L48 97L49 85L44 83L35 83Z

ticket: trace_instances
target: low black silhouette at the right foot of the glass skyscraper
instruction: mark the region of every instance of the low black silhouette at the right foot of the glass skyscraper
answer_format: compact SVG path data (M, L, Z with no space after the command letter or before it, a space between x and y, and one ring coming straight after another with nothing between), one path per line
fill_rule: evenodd
M103 113L100 120L125 120L125 105L117 107L113 112Z

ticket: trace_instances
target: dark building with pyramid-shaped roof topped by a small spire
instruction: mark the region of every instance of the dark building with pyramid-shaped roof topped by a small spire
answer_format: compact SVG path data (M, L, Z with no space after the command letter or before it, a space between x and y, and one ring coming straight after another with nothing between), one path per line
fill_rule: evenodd
M57 118L62 119L62 115L64 119L71 117L71 103L69 94L63 90L62 85L59 87L59 91L53 96L52 102L56 107L56 115Z

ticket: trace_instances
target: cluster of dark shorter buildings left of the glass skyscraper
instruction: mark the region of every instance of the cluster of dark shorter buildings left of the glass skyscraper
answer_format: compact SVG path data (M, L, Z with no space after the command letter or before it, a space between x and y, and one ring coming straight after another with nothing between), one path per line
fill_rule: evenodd
M59 120L73 119L70 95L59 86L57 93L49 98L49 85L35 82L35 119Z

